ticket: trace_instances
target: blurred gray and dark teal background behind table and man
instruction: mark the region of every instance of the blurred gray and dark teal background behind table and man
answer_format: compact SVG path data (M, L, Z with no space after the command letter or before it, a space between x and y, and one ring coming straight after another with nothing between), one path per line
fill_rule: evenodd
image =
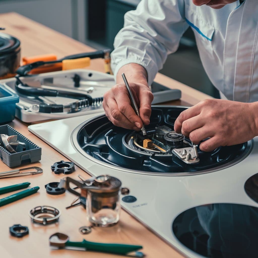
M125 12L135 9L139 2L140 0L0 0L0 13L17 12L96 49L113 49L114 37L123 27ZM219 97L200 62L191 29L183 35L178 51L168 56L160 72Z

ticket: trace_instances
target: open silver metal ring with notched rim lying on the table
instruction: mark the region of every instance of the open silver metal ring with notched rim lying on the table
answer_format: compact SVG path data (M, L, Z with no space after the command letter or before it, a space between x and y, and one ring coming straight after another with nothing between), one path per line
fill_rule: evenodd
M57 222L61 212L51 206L37 206L29 211L29 216L33 222L47 225Z

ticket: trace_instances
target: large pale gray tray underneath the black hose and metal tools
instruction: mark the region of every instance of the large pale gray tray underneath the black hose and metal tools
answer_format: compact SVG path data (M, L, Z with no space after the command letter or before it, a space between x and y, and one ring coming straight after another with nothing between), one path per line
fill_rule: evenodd
M39 86L40 84L45 85L52 83L55 86L69 87L71 89L78 89L74 87L74 81L72 77L77 74L80 76L80 89L85 89L88 87L94 87L94 90L89 95L92 98L103 97L104 93L110 90L112 86L115 85L115 80L113 75L105 74L103 72L86 70L86 69L73 69L66 71L58 71L58 72L48 72L44 74L39 74L35 76L29 77L20 77L20 79L31 85L31 86ZM0 80L0 83L3 84L7 89L16 93L15 91L15 78L3 79ZM154 100L152 104L157 104L165 101L171 101L181 98L180 90L171 90L163 85L158 83L153 83L151 85L151 90L154 94ZM19 94L18 94L19 95ZM61 97L47 97L47 99L55 104L68 104L75 101L75 99L61 98ZM26 123L49 120L49 119L63 119L74 116L82 116L88 115L97 112L103 112L102 105L98 106L90 106L81 109L75 113L35 113L29 111L28 108L22 103L22 101L30 102L31 104L38 103L34 98L24 98L20 95L20 102L16 104L15 116Z

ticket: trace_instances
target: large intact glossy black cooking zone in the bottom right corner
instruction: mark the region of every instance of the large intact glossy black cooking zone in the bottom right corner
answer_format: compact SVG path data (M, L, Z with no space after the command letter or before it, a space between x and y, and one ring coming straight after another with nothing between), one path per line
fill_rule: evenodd
M258 256L258 208L215 203L190 208L172 224L175 237L197 254L209 258Z

